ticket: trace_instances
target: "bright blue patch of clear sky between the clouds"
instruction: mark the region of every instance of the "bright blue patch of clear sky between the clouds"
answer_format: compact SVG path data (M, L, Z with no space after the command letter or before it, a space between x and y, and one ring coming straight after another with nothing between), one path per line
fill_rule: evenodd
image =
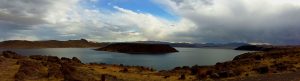
M165 18L171 21L177 20L175 14L171 14L166 9L151 0L99 0L97 2L88 2L85 5L89 8L99 10L115 11L114 6L132 10L139 13L150 13L154 16Z

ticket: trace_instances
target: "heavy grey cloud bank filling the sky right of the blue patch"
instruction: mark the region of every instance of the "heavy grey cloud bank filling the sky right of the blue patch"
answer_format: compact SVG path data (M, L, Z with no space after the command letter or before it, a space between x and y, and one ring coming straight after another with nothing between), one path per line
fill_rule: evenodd
M300 44L299 0L157 0L197 25L198 42Z

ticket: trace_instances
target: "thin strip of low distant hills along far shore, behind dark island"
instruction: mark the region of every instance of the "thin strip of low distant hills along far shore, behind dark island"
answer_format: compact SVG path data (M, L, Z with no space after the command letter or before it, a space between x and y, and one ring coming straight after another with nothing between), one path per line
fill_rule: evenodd
M0 48L87 48L103 47L114 43L143 43L143 44L168 44L171 47L186 48L236 48L248 43L190 43L190 42L163 42L163 41L134 41L134 42L92 42L86 39L80 40L46 40L46 41L27 41L27 40L9 40L0 42ZM253 43L254 44L254 43ZM258 44L258 43L255 43Z

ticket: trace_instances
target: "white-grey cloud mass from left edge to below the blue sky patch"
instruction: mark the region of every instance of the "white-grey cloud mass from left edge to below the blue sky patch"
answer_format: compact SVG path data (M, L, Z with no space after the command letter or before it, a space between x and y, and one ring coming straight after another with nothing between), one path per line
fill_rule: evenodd
M116 11L85 8L80 3L86 1L97 0L2 0L1 39L174 40L174 33L194 27L189 20L173 22L118 6Z

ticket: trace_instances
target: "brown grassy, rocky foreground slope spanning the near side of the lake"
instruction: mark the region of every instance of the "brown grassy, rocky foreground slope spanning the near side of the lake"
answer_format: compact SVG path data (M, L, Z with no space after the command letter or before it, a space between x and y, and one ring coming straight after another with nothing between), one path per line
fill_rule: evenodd
M245 53L213 66L154 71L139 66L83 64L76 57L0 55L1 81L300 81L300 49Z

